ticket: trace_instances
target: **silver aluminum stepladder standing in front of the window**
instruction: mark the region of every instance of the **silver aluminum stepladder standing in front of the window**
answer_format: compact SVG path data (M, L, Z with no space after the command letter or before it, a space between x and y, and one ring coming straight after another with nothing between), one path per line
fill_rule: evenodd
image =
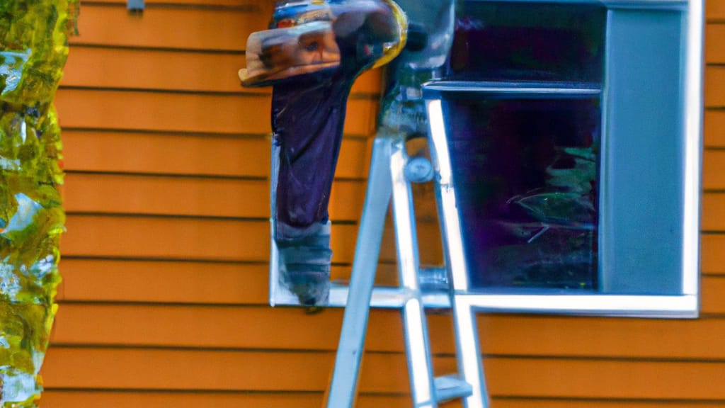
M476 315L462 295L449 287L455 321L458 373L434 377L419 274L412 182L428 181L433 170L423 158L409 158L405 141L378 136L373 141L368 187L357 235L355 258L344 311L336 362L326 399L327 408L355 404L370 301L380 253L386 212L392 202L397 244L399 288L410 393L415 408L436 408L439 402L462 399L464 408L489 407L481 366ZM392 200L391 200L392 197ZM450 262L447 262L450 267ZM452 286L449 271L448 285Z

